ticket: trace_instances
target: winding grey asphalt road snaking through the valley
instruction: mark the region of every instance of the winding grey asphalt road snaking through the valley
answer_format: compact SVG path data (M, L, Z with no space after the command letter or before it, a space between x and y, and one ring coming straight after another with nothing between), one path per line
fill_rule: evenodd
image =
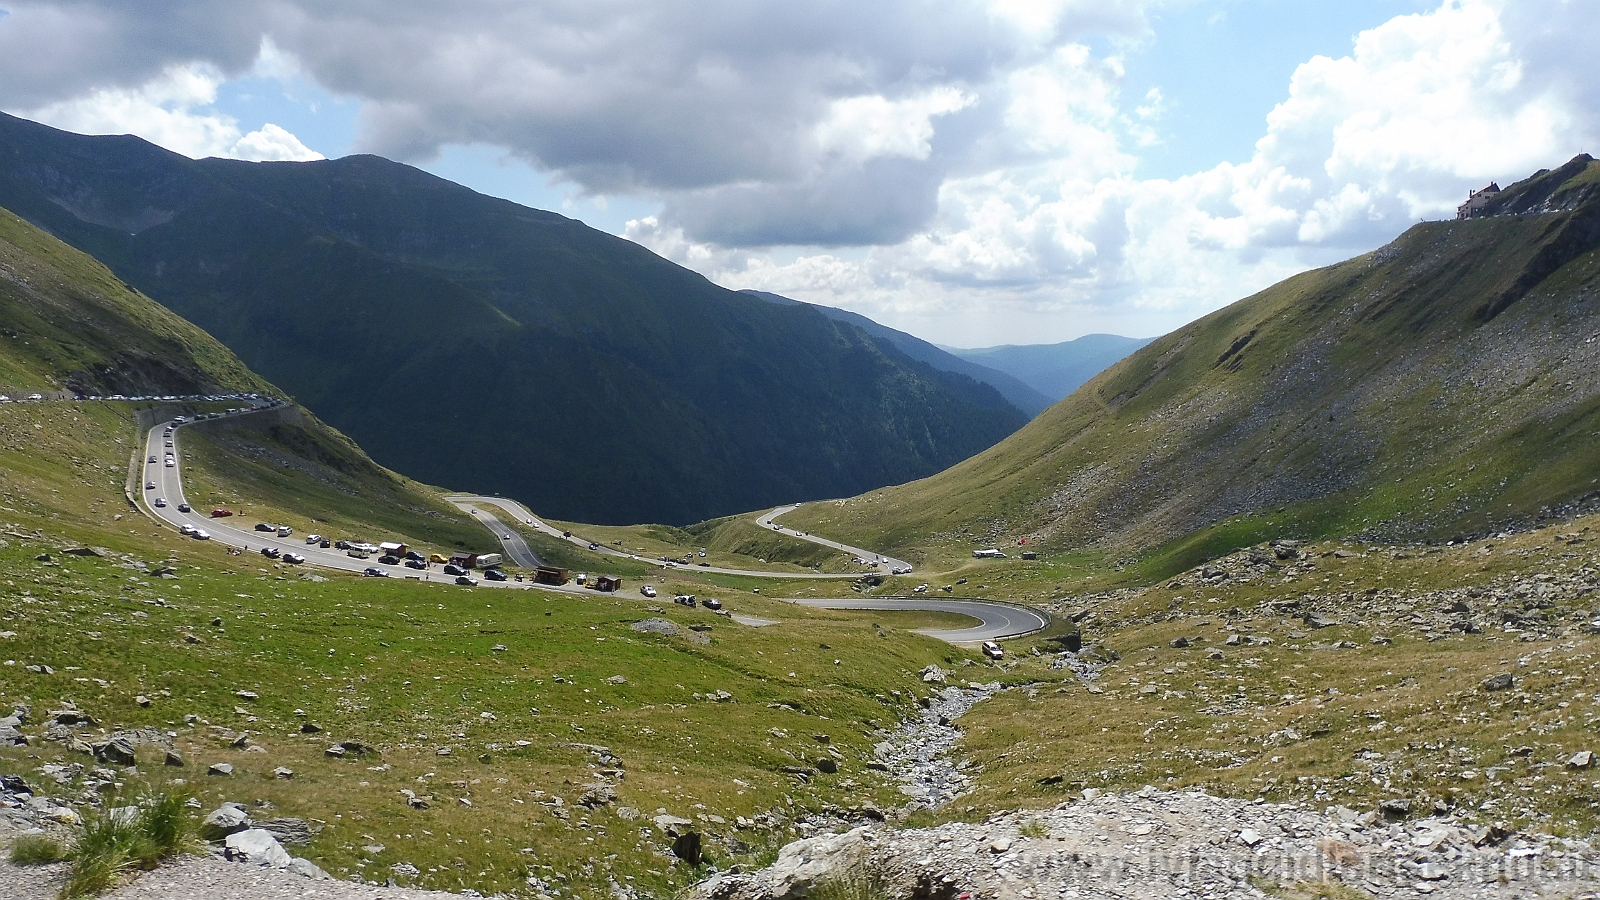
M264 408L272 408L272 405L262 405L250 410L242 410L237 413L227 413L227 416L250 415L261 412ZM238 548L242 552L259 552L262 546L275 546L282 551L293 551L306 557L306 565L317 565L322 569L333 569L339 572L355 572L360 573L368 567L373 567L370 559L354 559L346 556L338 549L322 549L317 544L304 543L302 535L278 536L275 533L269 535L266 532L246 530L245 522L238 522L235 517L213 519L210 511L190 509L189 512L179 511L179 504L186 503L184 485L182 485L182 456L179 453L179 436L184 428L194 423L171 424L157 423L150 428L149 436L144 442L144 453L136 460L138 463L138 479L139 484L136 490L136 503L150 517L166 522L173 527L192 525L202 528L210 535L210 540L230 548ZM171 434L166 429L171 428ZM150 458L155 461L149 461ZM168 461L171 464L168 464ZM165 500L163 506L157 506L155 500ZM565 536L560 528L554 528L538 516L534 516L526 506L499 496L451 496L448 498L458 508L472 516L478 524L490 528L490 532L501 541L506 554L512 557L512 562L522 567L539 565L539 557L533 552L528 543L517 535L515 528L506 527L496 516L482 509L482 506L498 506L499 509L510 514L518 522L533 527L542 533L554 535L562 540L568 540L574 544L589 548L589 543L578 536ZM861 548L853 548L848 544L840 544L829 541L826 538L816 538L808 533L795 532L792 528L782 528L773 524L773 519L795 509L798 504L779 506L771 512L763 514L758 522L763 527L782 532L790 536L842 549L845 552L859 556L862 559L877 560L880 565L888 567L906 567L909 564L875 554L872 551L864 551ZM238 524L235 524L238 522ZM251 525L253 528L253 525ZM254 549L251 549L254 548ZM640 560L640 557L614 551L602 546L597 552L606 556L618 556ZM642 560L654 562L654 560ZM411 569L395 569L395 575L419 580L419 581L443 581L453 583L454 580L446 575L438 575L430 570L411 570ZM782 573L782 572L750 572L739 569L717 569L717 567L694 567L691 572L715 572L725 575L747 575L758 578L853 578L854 575L818 575L818 573ZM531 589L534 585L531 581L478 581L483 588L510 588L510 589ZM541 591L555 591L565 594L592 594L586 588L574 585L552 586L539 585ZM816 607L816 609L838 609L838 610L926 610L926 612L954 612L960 615L973 617L979 625L960 629L925 629L922 634L930 637L938 637L950 644L970 644L978 641L1000 641L1005 637L1018 637L1024 634L1032 634L1050 625L1050 618L1045 613L1029 610L1024 607L1013 607L1005 604L994 604L986 601L936 601L936 599L859 599L859 597L843 597L843 599L798 599L790 601L797 605Z

